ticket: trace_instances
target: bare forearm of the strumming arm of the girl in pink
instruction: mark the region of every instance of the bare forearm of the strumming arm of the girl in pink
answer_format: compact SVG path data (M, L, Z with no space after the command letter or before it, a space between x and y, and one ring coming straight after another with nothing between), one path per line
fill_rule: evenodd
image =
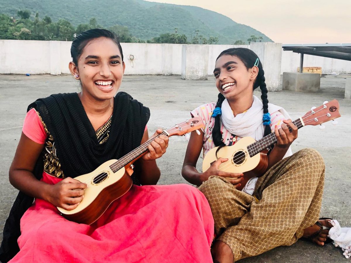
M48 200L51 185L39 181L30 171L10 170L9 181L12 186L29 196Z

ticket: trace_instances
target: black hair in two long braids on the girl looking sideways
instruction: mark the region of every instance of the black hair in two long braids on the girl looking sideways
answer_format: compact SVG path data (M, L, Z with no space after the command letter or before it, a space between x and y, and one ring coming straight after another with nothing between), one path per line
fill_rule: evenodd
M254 53L252 50L250 50L248 48L230 48L230 49L226 49L223 52L221 52L219 54L218 58L216 59L216 61L223 55L231 55L231 56L238 57L241 61L243 61L245 67L248 70L249 70L249 68L252 68L255 65L255 62L258 58L256 53ZM255 82L253 83L253 89L256 89L257 87L260 87L260 89L261 89L261 100L263 103L263 114L265 114L265 113L268 113L268 99L267 99L268 90L266 87L266 83L265 83L266 79L264 77L264 71L263 71L262 63L260 60L258 61L257 67L258 67L258 75L257 75ZM224 99L225 99L225 97L221 93L219 93L216 107L221 107ZM269 125L265 125L263 136L266 136L270 133L271 133L271 127ZM222 134L220 132L220 115L217 115L215 117L214 127L212 130L212 139L213 139L213 142L216 146L220 146L218 148L218 150L221 147L225 146L225 143L223 142L223 139L222 139Z

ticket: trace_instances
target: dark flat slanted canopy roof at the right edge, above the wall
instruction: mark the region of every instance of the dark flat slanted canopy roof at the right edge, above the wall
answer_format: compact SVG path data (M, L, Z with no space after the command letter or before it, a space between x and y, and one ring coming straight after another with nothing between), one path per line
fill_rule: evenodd
M295 53L324 56L332 59L351 61L351 43L349 44L291 44L283 45L284 50Z

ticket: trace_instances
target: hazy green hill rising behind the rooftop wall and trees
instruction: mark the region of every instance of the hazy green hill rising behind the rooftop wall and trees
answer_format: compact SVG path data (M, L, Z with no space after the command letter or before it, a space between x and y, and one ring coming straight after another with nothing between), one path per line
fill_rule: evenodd
M130 33L142 40L151 39L163 33L179 34L191 39L198 34L205 38L218 37L218 43L233 44L236 40L251 35L272 41L266 35L249 26L234 22L227 16L195 6L160 4L143 0L0 0L0 13L17 16L19 10L28 9L32 16L48 15L53 21L66 19L77 26L96 18L99 25L127 26Z

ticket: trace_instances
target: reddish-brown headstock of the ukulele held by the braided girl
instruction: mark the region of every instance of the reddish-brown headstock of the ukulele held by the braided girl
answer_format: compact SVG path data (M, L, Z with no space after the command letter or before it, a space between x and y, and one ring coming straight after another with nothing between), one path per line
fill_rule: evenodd
M306 112L304 116L301 117L303 121L303 126L305 125L319 125L327 121L334 120L340 117L339 113L339 102L337 100L332 100L330 102L325 101L323 105Z

